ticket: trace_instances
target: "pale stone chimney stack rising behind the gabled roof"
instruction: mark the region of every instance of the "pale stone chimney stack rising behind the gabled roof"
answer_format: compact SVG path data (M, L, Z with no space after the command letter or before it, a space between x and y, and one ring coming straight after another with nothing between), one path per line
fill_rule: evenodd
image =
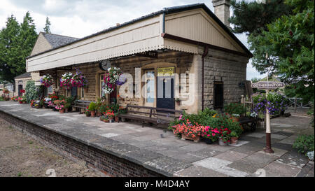
M230 0L212 0L214 14L228 27L230 27Z

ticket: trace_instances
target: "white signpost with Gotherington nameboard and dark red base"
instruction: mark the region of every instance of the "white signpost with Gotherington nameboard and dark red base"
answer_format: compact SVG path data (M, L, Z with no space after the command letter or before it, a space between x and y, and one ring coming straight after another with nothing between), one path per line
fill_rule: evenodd
M268 78L268 77L267 77ZM253 88L258 90L266 90L266 98L269 90L276 90L276 88L284 87L284 83L276 81L260 81L258 83L253 83L251 85ZM266 148L264 149L265 153L274 153L274 150L271 148L271 128L270 128L270 115L266 107Z

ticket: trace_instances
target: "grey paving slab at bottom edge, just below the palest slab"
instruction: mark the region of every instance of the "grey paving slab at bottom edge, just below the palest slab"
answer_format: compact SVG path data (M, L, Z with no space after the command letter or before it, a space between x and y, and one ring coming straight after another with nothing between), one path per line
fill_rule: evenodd
M174 174L180 177L228 177L227 174L193 165Z

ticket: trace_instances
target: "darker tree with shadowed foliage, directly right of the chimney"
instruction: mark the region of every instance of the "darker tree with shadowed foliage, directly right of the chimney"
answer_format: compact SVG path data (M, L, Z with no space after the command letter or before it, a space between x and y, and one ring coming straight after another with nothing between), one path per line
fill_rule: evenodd
M233 15L230 23L234 24L233 32L260 34L267 29L267 24L291 13L290 6L283 2L284 0L266 0L266 3L232 0Z

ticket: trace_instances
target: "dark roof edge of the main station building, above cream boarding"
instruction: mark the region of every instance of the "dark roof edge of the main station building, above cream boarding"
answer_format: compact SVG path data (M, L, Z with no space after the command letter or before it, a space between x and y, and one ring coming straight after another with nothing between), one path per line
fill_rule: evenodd
M148 19L150 17L155 17L156 15L160 15L162 13L165 13L165 14L179 13L179 12L182 12L182 11L185 11L185 10L193 10L195 8L202 8L202 9L204 9L208 13L208 15L210 17L212 17L220 25L220 27L222 27L224 29L224 31L227 32L228 35L233 40L235 40L237 42L237 44L246 52L246 54L249 57L253 57L253 54L251 53L251 51L249 51L246 48L246 46L243 43L241 43L241 41L239 41L239 38L237 38L235 36L235 34L233 34L232 31L230 31L230 29L214 13L212 13L212 11L204 3L195 3L195 4L189 4L189 5L183 5L183 6L172 6L172 7L168 7L168 8L163 8L162 10L156 11L154 13L151 13L151 14L148 14L148 15L144 15L142 17L139 17L139 18L134 19L134 20L130 20L129 22L125 22L123 24L116 25L115 27L109 27L108 29L104 29L104 30L99 31L97 33L90 34L90 35L85 36L83 38L77 38L75 41L71 41L71 42L66 43L64 45L59 45L57 48L62 48L64 46L66 46L66 45L69 45L69 44L72 44L72 43L76 43L78 41L83 41L83 40L85 40L87 38L92 38L93 36L97 36L99 34L104 34L106 32L113 31L115 29L119 29L120 27L125 27L127 25L134 24L134 23L139 22L141 20ZM31 58L31 57L36 57L37 55L41 55L41 54L43 54L45 52L49 52L49 51L55 50L57 48L52 48L50 50L45 50L43 52L40 52L40 53L38 53L36 55L31 55L31 56L27 57L27 59Z

